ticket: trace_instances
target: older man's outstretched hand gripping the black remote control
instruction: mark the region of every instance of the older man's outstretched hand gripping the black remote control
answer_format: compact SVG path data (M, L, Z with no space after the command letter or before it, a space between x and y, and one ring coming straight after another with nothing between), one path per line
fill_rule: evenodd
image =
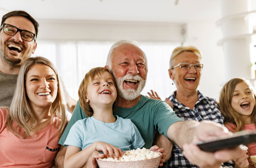
M204 152L195 144L198 141L210 140L223 135L229 135L228 129L220 124L202 121L196 126L192 143L182 146L184 156L193 164L199 167L220 167L222 162L234 160L240 156L241 148L237 146L235 149L223 149L216 152Z

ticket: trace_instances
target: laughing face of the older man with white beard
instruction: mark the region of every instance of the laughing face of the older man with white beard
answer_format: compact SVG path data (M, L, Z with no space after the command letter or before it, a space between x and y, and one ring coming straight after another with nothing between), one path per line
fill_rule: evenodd
M125 100L134 100L146 84L146 60L140 48L123 44L113 51L112 68L118 94Z

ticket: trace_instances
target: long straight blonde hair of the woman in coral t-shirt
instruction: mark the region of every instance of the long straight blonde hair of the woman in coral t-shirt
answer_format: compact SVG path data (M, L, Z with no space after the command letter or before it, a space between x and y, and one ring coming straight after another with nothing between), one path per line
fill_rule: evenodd
M57 97L51 105L51 122L54 127L58 128L59 137L61 137L65 126L67 124L67 118L65 115L65 102L63 98L63 90L61 86L60 78L58 77L57 70L52 62L44 57L30 57L24 61L21 66L21 69L17 78L17 85L15 93L10 105L10 110L7 116L7 128L16 136L25 139L28 136L33 137L32 129L37 125L37 121L34 113L29 104L29 99L26 97L25 93L25 83L26 76L28 71L33 65L46 65L49 66L56 74L57 83L58 83L58 92ZM54 124L54 118L57 117L57 124ZM29 122L28 122L29 121ZM17 124L16 127L13 127L13 122ZM24 134L20 135L20 130L24 129Z

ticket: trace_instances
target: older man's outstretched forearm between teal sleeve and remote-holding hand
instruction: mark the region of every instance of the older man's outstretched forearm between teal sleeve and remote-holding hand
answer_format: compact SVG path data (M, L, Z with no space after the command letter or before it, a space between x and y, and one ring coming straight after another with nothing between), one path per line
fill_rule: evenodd
M198 125L199 122L192 120L175 122L168 128L167 137L182 148L183 144L192 142Z

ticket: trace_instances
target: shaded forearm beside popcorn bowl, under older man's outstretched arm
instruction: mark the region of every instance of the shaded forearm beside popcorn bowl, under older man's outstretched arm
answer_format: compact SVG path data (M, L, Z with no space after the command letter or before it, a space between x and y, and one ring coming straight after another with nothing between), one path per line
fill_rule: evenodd
M164 153L166 156L164 157L165 161L168 161L171 157L171 151L173 149L173 143L169 141L164 135L156 133L153 146L157 145L159 148L164 148Z

